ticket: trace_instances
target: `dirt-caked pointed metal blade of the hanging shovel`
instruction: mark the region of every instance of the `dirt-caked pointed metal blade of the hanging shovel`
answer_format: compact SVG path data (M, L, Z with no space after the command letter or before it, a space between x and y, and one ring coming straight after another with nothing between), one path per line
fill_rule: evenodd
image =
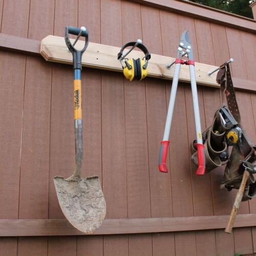
M60 208L67 220L81 232L93 233L106 214L99 177L66 181L56 176L53 180Z

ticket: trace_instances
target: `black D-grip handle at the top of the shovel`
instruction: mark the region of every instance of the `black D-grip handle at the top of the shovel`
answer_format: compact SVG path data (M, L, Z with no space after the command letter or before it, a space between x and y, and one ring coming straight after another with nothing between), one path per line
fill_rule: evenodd
M82 27L84 28L84 27ZM84 28L86 29L86 28ZM78 50L74 47L74 44L72 45L72 42L70 41L69 34L77 35L75 42L78 40L80 36L84 36L84 46L81 50ZM89 31L88 30L82 30L81 28L75 28L67 26L65 28L65 42L69 49L69 51L73 55L73 69L82 69L82 54L86 50L89 44Z

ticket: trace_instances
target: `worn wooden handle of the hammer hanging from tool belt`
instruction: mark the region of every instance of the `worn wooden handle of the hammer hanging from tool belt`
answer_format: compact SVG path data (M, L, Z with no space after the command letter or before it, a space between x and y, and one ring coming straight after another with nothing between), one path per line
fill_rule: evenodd
M248 172L248 170L245 169L244 174L243 174L243 179L242 179L242 182L240 184L236 199L234 200L234 204L233 204L230 216L229 216L227 227L225 229L226 233L231 234L231 232L232 232L234 220L236 220L238 209L240 207L240 203L241 203L241 200L242 200L242 197L243 197L243 194L244 194L244 188L245 188L245 185L246 185L246 182L248 180L249 175L250 175L250 173Z

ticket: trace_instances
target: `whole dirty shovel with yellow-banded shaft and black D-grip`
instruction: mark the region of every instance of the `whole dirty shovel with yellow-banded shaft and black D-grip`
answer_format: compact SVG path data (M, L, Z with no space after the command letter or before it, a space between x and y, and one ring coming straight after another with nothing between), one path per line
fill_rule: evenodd
M71 44L69 34L77 35ZM85 37L82 50L74 45L80 36ZM98 176L81 178L83 158L82 140L82 98L81 98L81 58L89 44L89 32L86 28L66 27L65 41L73 55L74 69L74 127L75 127L75 170L67 179L54 177L55 189L60 208L67 220L78 230L90 234L103 222L106 204Z

